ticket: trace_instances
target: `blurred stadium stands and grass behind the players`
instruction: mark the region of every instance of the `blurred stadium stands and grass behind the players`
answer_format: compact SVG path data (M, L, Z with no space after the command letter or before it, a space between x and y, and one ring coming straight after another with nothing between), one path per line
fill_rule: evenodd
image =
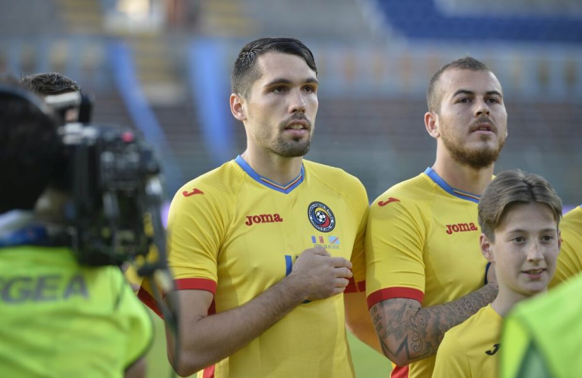
M164 159L168 199L244 150L228 108L230 68L258 36L292 36L320 70L307 158L356 175L370 200L434 162L425 89L464 55L505 91L509 138L496 172L545 176L582 203L580 0L2 1L0 71L57 71L95 95L93 119L139 130ZM161 331L161 323L157 323ZM358 376L388 363L353 342ZM369 358L369 359L368 359ZM169 372L163 335L151 377Z

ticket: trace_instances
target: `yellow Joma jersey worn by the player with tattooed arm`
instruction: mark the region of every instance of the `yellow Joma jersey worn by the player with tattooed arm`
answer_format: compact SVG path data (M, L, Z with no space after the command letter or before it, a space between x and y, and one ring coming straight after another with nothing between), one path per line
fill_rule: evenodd
M478 200L431 168L379 196L365 236L368 306L411 298L428 307L482 287L487 260L479 246ZM430 376L434 360L411 363L409 375ZM396 367L393 376L398 374Z

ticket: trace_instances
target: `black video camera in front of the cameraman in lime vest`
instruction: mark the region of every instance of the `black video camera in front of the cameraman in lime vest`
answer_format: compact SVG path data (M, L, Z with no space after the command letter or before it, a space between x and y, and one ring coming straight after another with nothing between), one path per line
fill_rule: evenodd
M12 83L0 84L0 97L33 105L47 118L42 127L58 132L47 146L51 182L38 188L47 207L37 202L34 227L10 232L0 246L66 246L84 266L130 262L151 287L166 324L177 330L178 303L161 299L175 285L166 263L161 164L152 146L131 129L91 123L91 99L78 92L43 101ZM42 140L38 145L44 147Z

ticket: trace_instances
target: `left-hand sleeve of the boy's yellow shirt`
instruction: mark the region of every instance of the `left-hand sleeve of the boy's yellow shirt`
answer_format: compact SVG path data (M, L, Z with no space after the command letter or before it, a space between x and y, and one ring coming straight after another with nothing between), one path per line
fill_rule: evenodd
M438 347L432 378L469 378L471 376L469 361L462 345L454 335L445 333Z

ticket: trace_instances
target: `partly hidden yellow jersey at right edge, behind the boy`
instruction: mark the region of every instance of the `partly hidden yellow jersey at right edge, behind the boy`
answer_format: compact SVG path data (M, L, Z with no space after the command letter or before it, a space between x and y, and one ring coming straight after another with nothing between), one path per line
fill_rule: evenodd
M582 206L568 211L560 222L562 248L558 255L556 273L549 287L569 280L582 272Z

